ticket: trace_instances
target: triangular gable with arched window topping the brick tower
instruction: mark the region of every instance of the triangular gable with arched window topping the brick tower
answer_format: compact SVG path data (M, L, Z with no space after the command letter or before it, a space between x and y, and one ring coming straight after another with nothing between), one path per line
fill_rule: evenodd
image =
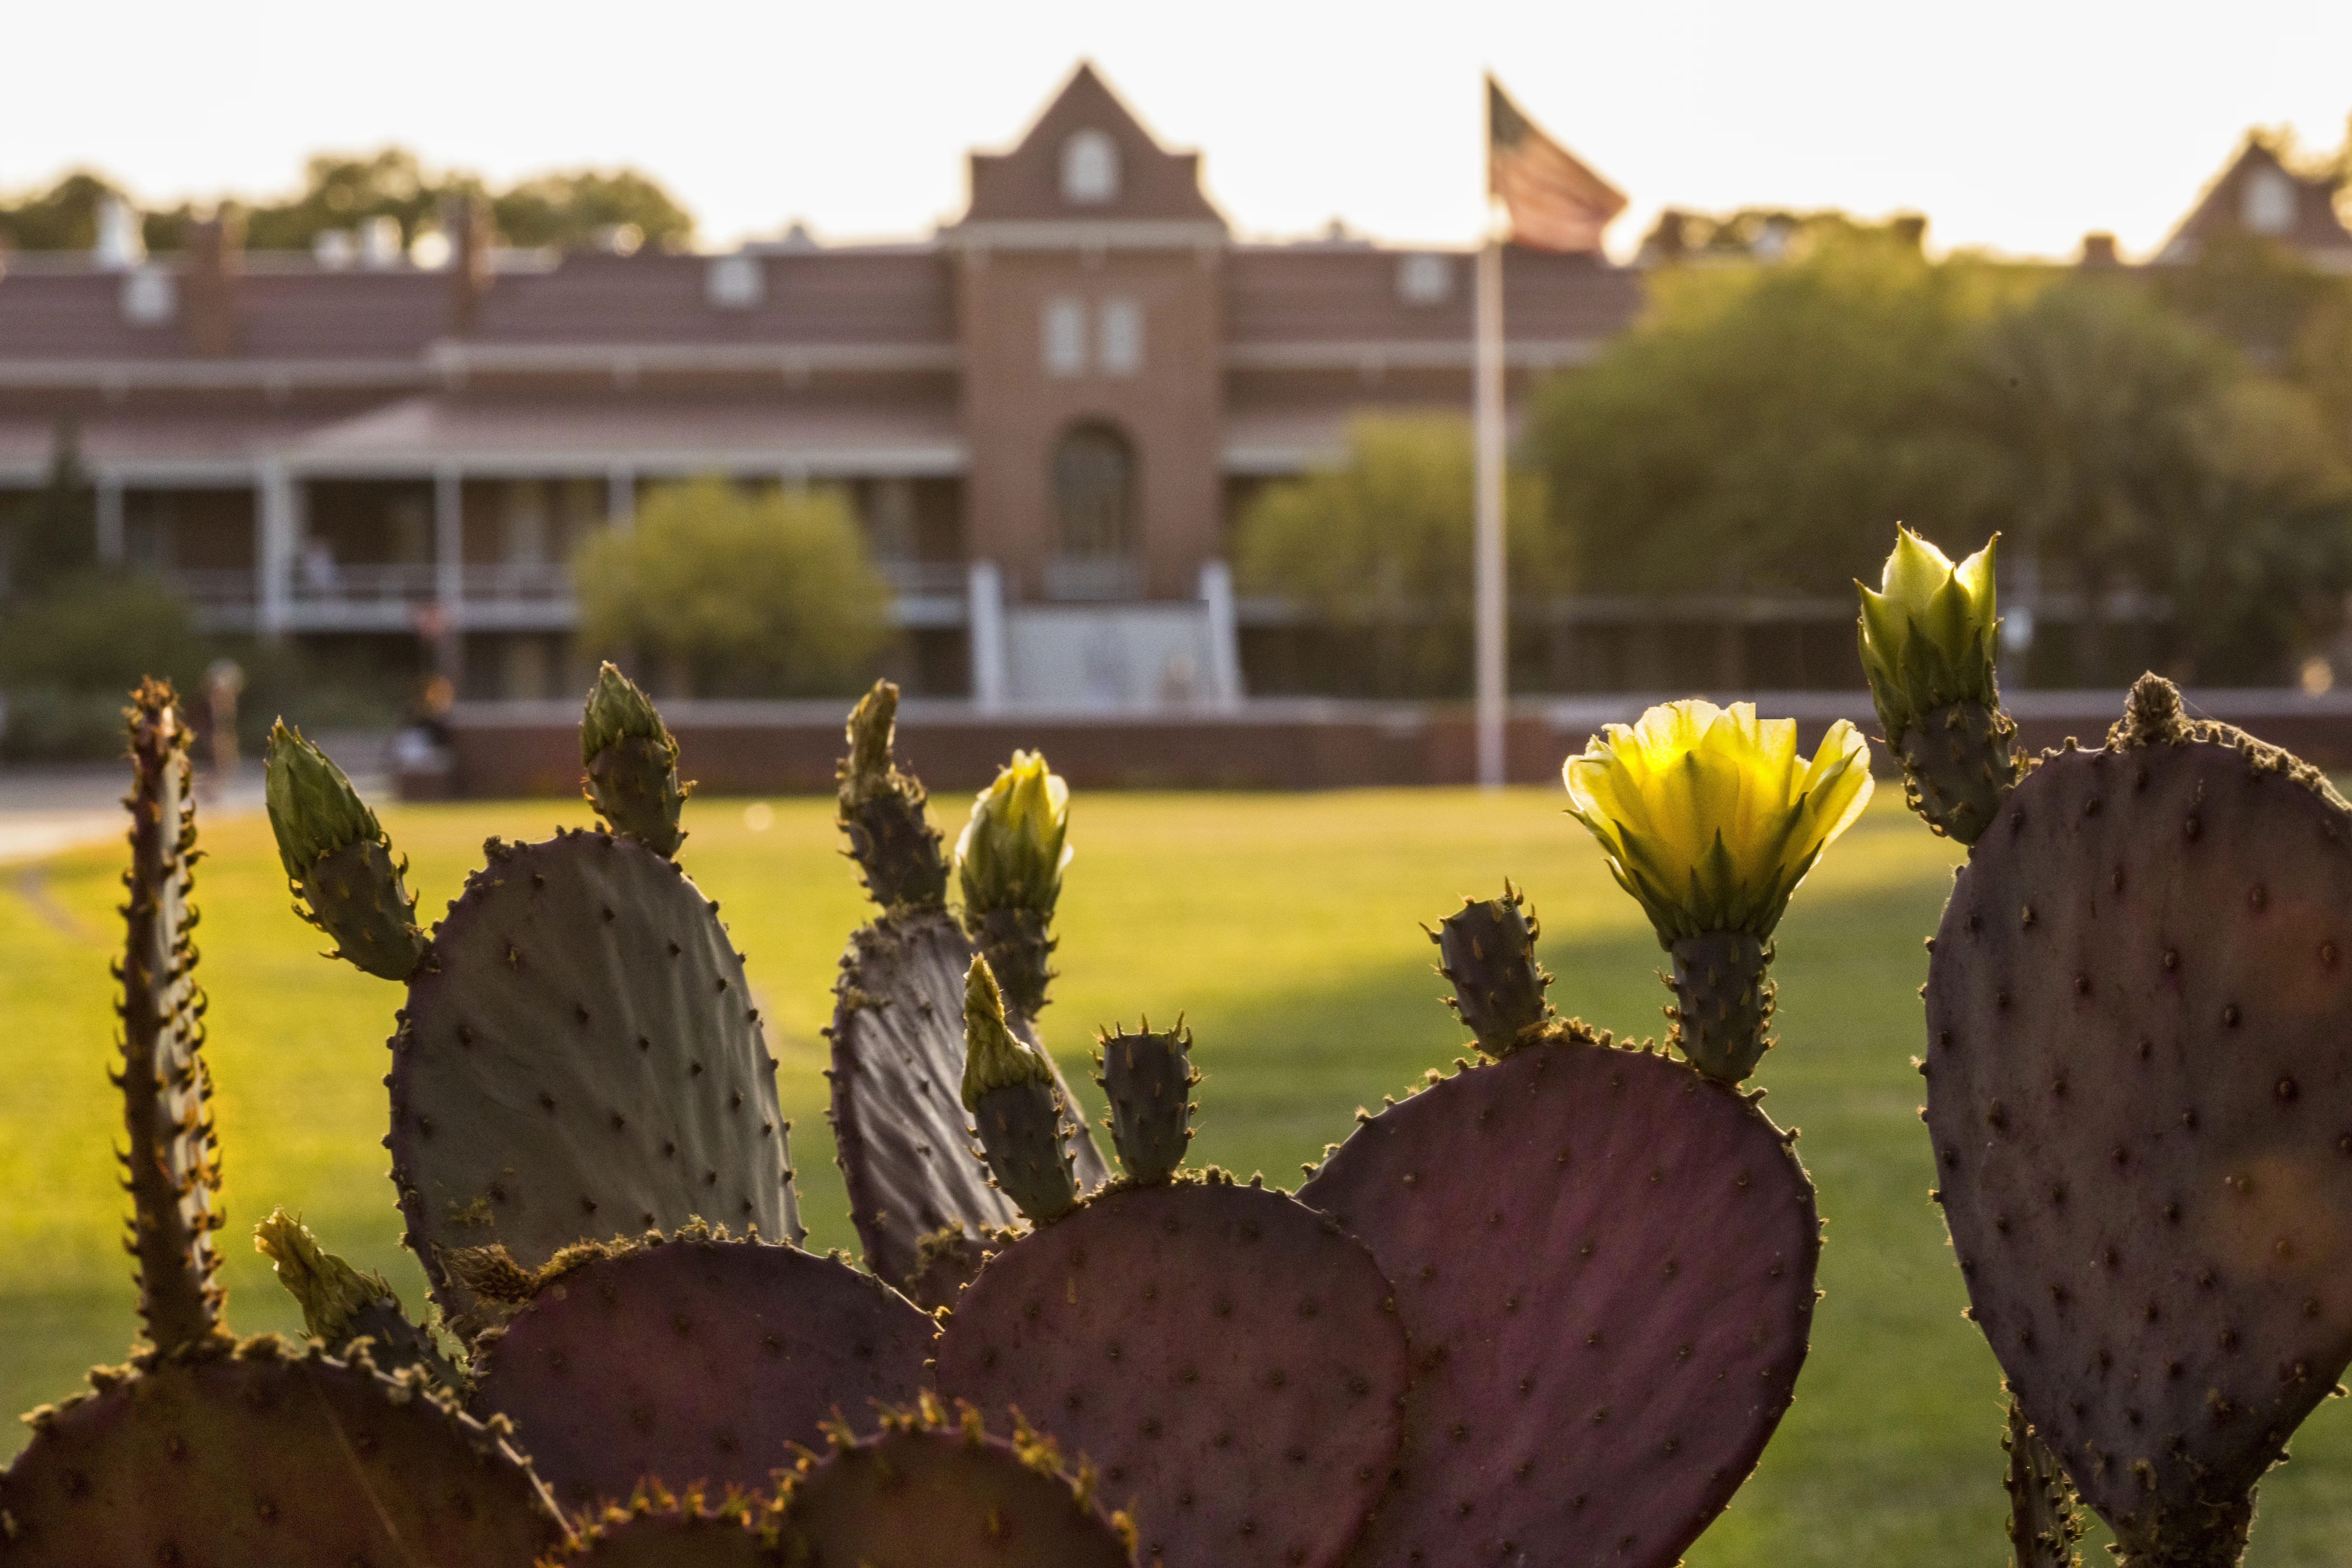
M1098 230L1080 235L1070 226ZM1221 244L1225 219L1200 188L1200 153L1171 153L1082 63L1007 153L971 155L960 244Z

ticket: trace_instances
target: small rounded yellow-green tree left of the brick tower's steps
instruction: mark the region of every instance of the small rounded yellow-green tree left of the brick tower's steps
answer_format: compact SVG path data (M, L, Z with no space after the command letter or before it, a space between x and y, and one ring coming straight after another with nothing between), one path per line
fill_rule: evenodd
M670 487L635 529L590 538L574 576L583 644L649 661L680 696L844 696L889 642L889 583L837 491Z

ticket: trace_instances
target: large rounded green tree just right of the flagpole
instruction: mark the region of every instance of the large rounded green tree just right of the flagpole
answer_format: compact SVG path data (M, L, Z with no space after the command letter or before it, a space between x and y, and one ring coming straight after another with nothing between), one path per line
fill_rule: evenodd
M1893 233L1816 226L1778 266L1670 268L1529 421L1581 590L1844 595L1893 524L1964 536L1980 449L1952 395L2018 287Z

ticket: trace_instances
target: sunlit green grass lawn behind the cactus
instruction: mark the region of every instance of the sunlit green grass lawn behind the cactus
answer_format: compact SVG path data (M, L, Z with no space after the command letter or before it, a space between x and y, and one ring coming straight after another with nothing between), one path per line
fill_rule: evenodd
M1461 893L1519 879L1543 914L1562 1011L1656 1034L1661 952L1557 790L1345 795L1087 795L1077 802L1047 1039L1073 1077L1096 1025L1188 1013L1202 1086L1200 1161L1294 1185L1301 1161L1463 1051L1416 931ZM960 811L960 802L953 806ZM489 832L534 837L583 806L409 806L386 823L440 910ZM696 802L682 860L722 900L771 1020L779 1086L814 1229L856 1246L826 1138L823 1027L833 964L863 919L835 853L833 804L779 802L750 832L741 802ZM273 1204L386 1269L409 1305L386 1180L383 1039L397 987L329 964L287 912L259 818L205 837L202 980L226 1147L228 1312L299 1328L245 1237ZM120 1359L134 1333L125 1199L106 1088L118 947L118 849L0 870L0 1403L28 1408ZM1962 1321L1959 1276L1926 1201L1915 1110L1922 936L1952 853L1882 790L1780 926L1780 1048L1766 1110L1802 1126L1820 1185L1825 1300L1797 1403L1762 1469L1691 1552L1693 1568L2004 1561L1999 1375ZM19 1432L0 1434L0 1458ZM2253 1563L2338 1563L2352 1530L2352 1413L2321 1408L2263 1490ZM2098 1559L2105 1561L2105 1559Z

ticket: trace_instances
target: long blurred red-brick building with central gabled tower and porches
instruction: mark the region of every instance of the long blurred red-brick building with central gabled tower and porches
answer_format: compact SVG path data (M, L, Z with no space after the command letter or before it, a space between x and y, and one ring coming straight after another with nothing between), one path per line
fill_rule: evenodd
M440 268L240 254L219 226L158 263L9 259L0 487L38 484L71 418L101 550L209 625L553 696L583 682L564 562L644 487L840 484L915 689L1216 698L1247 491L1334 456L1359 409L1470 402L1468 254L1235 240L1197 155L1087 66L971 155L927 240L543 256L454 228ZM1639 284L1512 252L1505 296L1522 393Z

